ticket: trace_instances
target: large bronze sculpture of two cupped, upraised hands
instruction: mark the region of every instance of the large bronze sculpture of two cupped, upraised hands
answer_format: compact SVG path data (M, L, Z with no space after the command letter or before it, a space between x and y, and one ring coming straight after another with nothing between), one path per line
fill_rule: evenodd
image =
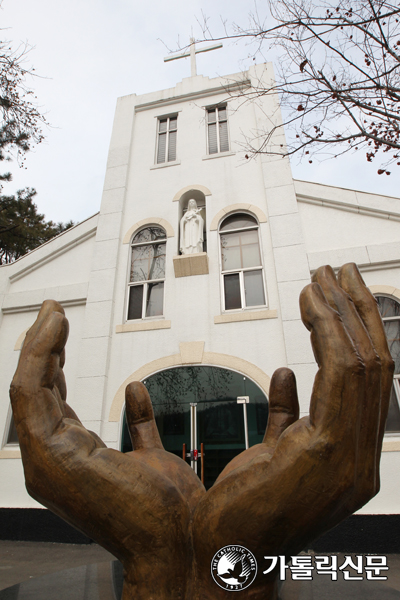
M338 280L322 267L313 280L300 296L319 366L310 415L298 419L294 375L278 369L263 443L208 492L164 451L142 384L126 390L133 452L83 427L65 401L68 322L56 302L43 305L11 385L26 487L121 560L123 600L231 599L211 577L218 550L242 545L259 561L298 554L378 492L393 361L376 301L355 265ZM274 600L277 579L259 568L240 597Z

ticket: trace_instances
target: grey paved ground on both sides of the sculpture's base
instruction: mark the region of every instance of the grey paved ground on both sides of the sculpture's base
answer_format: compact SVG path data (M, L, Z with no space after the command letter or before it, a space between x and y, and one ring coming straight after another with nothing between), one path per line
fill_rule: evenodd
M96 544L0 541L0 600L115 600L122 570L113 560ZM344 581L341 572L337 581L327 574L292 581L286 571L281 600L400 600L400 555L388 555L388 566L387 581L368 581L365 572L362 581Z

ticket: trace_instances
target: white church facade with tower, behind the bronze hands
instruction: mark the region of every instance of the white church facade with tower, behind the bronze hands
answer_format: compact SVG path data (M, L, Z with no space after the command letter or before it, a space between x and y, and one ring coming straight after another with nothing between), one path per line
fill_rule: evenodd
M246 440L259 441L278 367L295 372L308 414L316 364L298 299L320 265L358 264L379 297L400 376L400 199L295 181L287 158L246 160L243 132L268 130L279 105L274 96L242 103L237 91L271 77L272 65L257 65L119 98L99 213L0 267L0 508L39 508L25 490L8 388L47 298L70 323L68 402L116 449L126 443L124 390L133 380L152 382L160 398L166 447L203 443L204 466L217 470ZM181 254L190 200L202 246ZM400 514L396 390L381 491L366 515Z

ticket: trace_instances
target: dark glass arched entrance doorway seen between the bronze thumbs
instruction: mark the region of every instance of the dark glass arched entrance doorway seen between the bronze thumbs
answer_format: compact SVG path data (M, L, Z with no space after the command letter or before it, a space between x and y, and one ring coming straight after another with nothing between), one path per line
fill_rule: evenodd
M204 444L206 488L245 449L246 438L249 446L263 439L268 400L258 385L241 373L205 365L182 366L155 373L143 383L152 399L164 448L182 457L184 444L188 452L198 449L199 454ZM242 402L248 398L246 419L238 398ZM125 416L122 431L121 449L128 452L132 445ZM200 473L200 458L193 466Z

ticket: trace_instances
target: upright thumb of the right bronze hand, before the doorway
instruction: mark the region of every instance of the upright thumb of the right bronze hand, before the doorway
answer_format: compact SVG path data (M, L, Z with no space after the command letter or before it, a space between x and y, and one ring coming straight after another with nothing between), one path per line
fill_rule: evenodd
M268 424L263 443L275 448L285 429L298 418L299 401L294 373L286 368L277 369L271 379Z

